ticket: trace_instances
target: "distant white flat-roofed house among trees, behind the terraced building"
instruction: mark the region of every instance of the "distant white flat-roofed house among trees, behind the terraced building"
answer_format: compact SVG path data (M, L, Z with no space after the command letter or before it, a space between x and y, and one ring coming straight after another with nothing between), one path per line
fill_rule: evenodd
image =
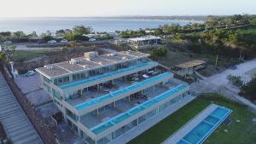
M162 40L161 37L148 35L143 37L128 38L128 43L130 43L131 47L136 49L143 49L148 46L160 44L162 43Z

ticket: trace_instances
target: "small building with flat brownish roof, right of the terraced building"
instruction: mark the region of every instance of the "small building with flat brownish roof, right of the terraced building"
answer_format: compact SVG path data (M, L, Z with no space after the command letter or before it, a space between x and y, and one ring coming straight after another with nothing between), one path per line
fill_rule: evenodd
M205 67L207 61L204 60L192 60L184 62L174 67L174 72L177 75L188 78L190 75L194 74L196 70Z

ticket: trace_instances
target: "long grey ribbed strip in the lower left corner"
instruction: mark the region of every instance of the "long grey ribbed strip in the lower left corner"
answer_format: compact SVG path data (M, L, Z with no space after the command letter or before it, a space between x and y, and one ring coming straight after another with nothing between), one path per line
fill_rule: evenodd
M43 144L0 72L0 121L14 144Z

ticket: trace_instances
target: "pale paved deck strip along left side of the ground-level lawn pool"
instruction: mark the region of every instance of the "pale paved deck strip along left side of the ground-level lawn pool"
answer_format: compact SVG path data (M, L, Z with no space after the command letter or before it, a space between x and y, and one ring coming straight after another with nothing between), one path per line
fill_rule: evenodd
M173 135L163 141L161 144L175 144L178 141L183 140L183 137L187 135L191 130L193 130L198 124L202 122L203 119L207 118L214 110L219 106L215 104L209 105L202 112L200 112L195 118L192 118L187 124L183 125L182 128L177 130ZM190 142L188 142L190 143Z

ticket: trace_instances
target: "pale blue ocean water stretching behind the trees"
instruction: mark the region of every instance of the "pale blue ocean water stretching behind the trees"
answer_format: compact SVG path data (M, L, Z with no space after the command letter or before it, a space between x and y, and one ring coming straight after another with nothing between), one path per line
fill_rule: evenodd
M91 26L95 32L115 32L155 28L165 24L188 25L195 20L142 20L113 18L4 18L0 19L0 32L33 31L41 34L46 31L55 32L60 29L72 29L73 26Z

